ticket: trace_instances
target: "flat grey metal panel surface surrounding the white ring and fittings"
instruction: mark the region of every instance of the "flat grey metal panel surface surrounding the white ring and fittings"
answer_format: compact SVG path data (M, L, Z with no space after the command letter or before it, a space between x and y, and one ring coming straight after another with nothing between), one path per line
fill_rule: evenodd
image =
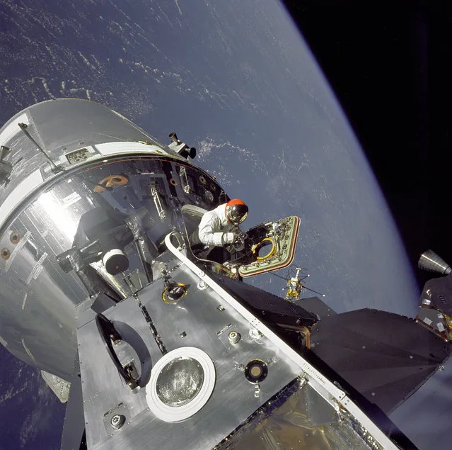
M164 287L161 279L146 286L137 295L168 351L185 346L197 347L214 361L214 392L199 412L183 422L168 423L154 417L147 411L144 389L133 394L120 379L95 328L93 314L86 311L81 315L78 334L84 381L83 400L88 422L87 439L93 449L124 449L131 442L134 449L148 449L150 437L153 448L210 449L300 373L299 367L286 360L269 339L262 337L261 343L251 339L248 320L233 308L219 310L219 305L223 303L221 298L211 289L199 291L196 288L197 279L190 270L182 266L172 271L171 276L172 281L189 286L187 296L177 305L169 305L161 299ZM137 300L123 300L106 311L105 316L117 325L118 331L121 328L123 337L124 330L135 330L149 351L152 365L156 364L161 353L137 307ZM243 336L237 345L230 345L230 348L225 347L216 334L228 323L235 324ZM180 336L182 332L186 332L183 338ZM227 333L224 336L227 341ZM127 342L130 343L130 340ZM248 383L243 371L233 369L234 362L246 364L255 358L277 359L260 386L260 398L255 398L253 386ZM140 360L143 361L143 358ZM127 419L130 424L124 424L111 437L105 432L102 417L120 403L127 405L131 412L131 417Z

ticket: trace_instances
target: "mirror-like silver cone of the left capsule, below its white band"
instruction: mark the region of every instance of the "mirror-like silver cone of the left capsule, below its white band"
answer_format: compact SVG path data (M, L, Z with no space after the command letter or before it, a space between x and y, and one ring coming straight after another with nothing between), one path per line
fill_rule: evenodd
M209 180L211 200L200 179ZM204 171L164 156L110 157L62 174L0 235L1 342L28 364L68 379L75 306L99 292L120 300L137 290L132 283L145 285L164 237L178 226L180 206L209 209L225 198ZM115 242L128 268L112 275L103 255Z

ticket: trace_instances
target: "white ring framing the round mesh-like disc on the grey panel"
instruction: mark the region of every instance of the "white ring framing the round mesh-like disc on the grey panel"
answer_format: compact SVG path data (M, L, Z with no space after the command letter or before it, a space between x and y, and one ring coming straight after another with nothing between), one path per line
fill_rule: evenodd
M163 368L173 359L185 356L195 359L204 372L204 382L199 393L186 405L168 406L157 395L157 378ZM151 380L146 385L146 400L151 412L165 422L180 422L196 414L209 400L215 386L215 366L209 355L196 347L180 347L159 359L151 371Z

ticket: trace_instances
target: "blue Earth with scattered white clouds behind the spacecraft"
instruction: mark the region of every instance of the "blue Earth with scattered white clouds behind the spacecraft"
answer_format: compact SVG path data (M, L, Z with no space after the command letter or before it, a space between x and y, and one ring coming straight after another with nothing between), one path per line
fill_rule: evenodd
M334 310L415 316L417 286L388 206L277 0L0 0L0 59L1 124L33 103L78 97L161 142L174 130L248 203L244 225L299 215L294 267L308 268L308 286ZM282 295L270 275L249 282ZM0 350L0 449L59 449L64 405ZM419 448L446 439L448 378L439 373L393 414Z

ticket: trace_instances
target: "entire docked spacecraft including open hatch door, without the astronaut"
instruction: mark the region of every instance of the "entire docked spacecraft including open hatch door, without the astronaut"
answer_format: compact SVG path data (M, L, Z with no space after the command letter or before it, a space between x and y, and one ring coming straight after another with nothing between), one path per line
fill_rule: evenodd
M451 269L423 255L447 276L415 320L336 314L298 273L289 298L255 288L299 219L200 258L190 237L229 198L170 138L79 99L0 130L0 341L67 400L62 449L414 447L387 415L450 354Z

